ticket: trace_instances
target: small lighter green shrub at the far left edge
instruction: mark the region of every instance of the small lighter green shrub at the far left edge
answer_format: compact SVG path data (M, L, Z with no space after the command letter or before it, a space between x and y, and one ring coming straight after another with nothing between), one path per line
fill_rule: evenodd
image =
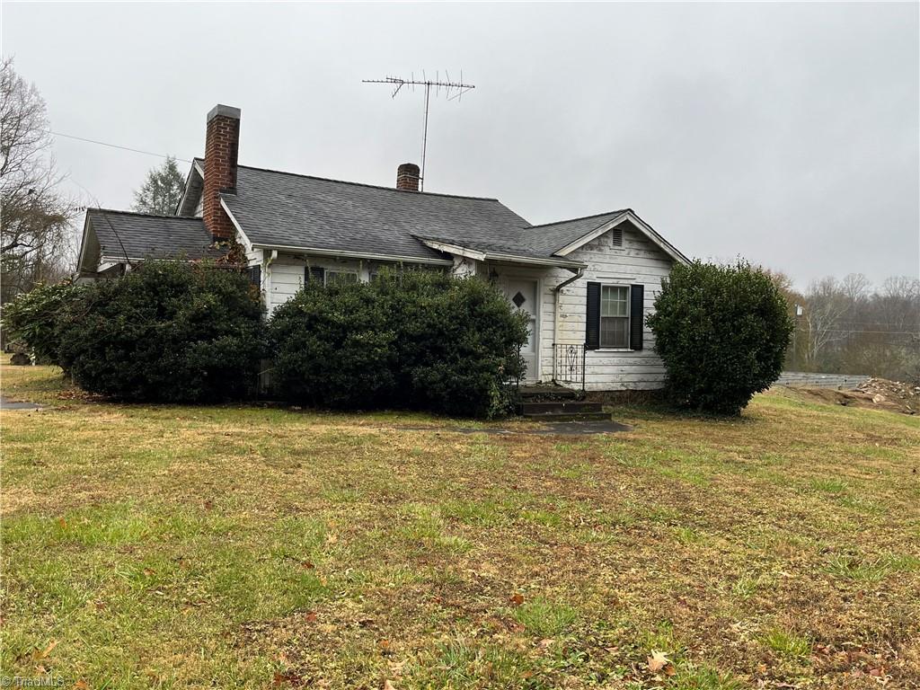
M72 281L63 281L39 285L17 295L3 307L6 338L24 343L40 364L59 363L59 322L84 290Z

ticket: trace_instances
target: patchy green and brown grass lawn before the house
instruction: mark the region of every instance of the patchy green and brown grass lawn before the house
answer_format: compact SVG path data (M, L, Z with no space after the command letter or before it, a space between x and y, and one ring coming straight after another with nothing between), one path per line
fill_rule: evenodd
M2 374L50 405L0 413L3 674L920 686L914 418L778 392L741 420L622 408L635 431L461 434L116 405L51 368Z

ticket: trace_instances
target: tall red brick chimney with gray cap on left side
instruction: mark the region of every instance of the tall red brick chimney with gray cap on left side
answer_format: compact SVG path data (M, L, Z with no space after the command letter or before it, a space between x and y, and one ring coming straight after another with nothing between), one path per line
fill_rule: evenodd
M221 192L236 194L240 109L217 105L208 113L204 137L204 197L201 219L213 240L232 239L236 228L221 207Z

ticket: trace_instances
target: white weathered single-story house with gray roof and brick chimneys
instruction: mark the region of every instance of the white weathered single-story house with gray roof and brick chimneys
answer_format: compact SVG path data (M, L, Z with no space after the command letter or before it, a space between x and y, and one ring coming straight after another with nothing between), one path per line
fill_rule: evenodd
M661 387L645 316L684 256L629 209L532 225L495 199L239 166L240 112L208 115L175 216L91 209L80 276L102 279L146 258L225 256L236 246L273 311L306 280L370 281L382 267L446 270L496 284L530 318L529 382L589 390Z

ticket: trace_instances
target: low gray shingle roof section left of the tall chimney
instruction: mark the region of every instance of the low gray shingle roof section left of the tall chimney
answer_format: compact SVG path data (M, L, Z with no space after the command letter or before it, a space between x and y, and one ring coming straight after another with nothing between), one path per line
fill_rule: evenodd
M96 233L103 257L202 259L224 253L211 247L211 234L201 218L87 209L86 221Z

